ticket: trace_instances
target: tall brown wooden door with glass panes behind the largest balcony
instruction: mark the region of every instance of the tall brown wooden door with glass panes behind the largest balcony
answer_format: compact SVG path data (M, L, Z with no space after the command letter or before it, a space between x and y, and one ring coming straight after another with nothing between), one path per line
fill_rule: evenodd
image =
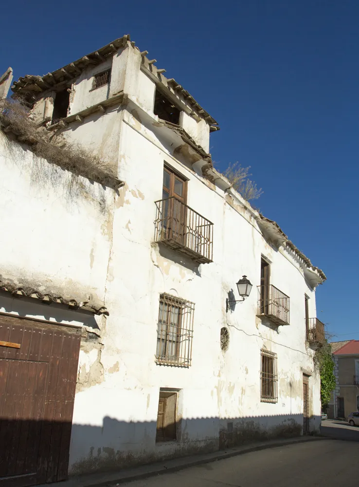
M171 198L163 203L163 229L165 238L186 244L186 194L187 181L171 169L163 168L162 199ZM173 197L173 198L172 198Z

